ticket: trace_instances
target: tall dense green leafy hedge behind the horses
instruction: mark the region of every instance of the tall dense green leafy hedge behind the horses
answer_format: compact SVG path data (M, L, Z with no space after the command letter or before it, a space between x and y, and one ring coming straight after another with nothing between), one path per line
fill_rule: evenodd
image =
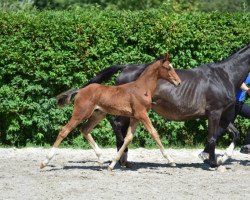
M176 68L219 61L249 43L249 13L182 13L100 10L0 12L1 143L52 144L69 119L72 105L56 106L55 96L82 86L100 70L145 63L170 52ZM204 143L204 120L167 122L150 113L164 144ZM240 119L245 133L249 122ZM93 131L99 144L114 145L104 120ZM228 136L222 143L228 143ZM64 144L87 146L77 130ZM154 144L143 127L136 145Z

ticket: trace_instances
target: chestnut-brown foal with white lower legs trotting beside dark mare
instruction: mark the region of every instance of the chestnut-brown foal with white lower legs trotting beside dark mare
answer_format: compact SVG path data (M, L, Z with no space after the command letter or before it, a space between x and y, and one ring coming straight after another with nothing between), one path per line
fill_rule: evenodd
M73 114L69 122L62 127L53 148L46 156L46 159L41 163L40 167L43 168L49 163L62 140L72 129L86 119L88 119L88 121L80 130L94 149L98 161L102 162L100 148L92 138L91 130L105 118L107 113L130 117L130 125L124 144L109 165L109 170L114 168L125 148L132 141L138 122L142 122L149 131L153 139L159 145L161 153L168 160L170 165L175 165L173 159L165 152L159 135L148 117L148 111L151 108L152 96L158 79L166 79L176 86L181 83L180 78L169 62L168 54L164 58L150 64L134 82L119 86L106 86L94 83L85 88L75 90L74 93L67 91L59 95L64 98L66 96L67 98L67 102L61 103L61 106L63 106L70 102L70 98L73 94L77 94L75 97ZM60 98L58 101L59 100Z

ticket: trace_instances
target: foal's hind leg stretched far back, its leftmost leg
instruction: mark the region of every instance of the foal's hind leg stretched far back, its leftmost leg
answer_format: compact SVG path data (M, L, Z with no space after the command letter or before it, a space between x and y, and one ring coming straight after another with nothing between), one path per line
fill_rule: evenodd
M44 168L50 160L54 157L56 149L61 144L62 140L67 137L67 135L72 131L81 121L87 119L91 116L94 110L94 106L90 102L82 102L81 106L78 103L74 105L74 111L69 122L62 127L59 132L56 141L51 148L50 152L47 154L46 159L41 163L40 168Z

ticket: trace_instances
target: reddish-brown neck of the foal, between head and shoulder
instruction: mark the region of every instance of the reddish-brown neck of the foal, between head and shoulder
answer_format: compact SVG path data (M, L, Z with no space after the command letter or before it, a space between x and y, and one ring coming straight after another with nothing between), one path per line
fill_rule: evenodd
M139 76L135 83L140 88L145 88L150 91L151 94L154 93L158 80L158 66L152 64Z

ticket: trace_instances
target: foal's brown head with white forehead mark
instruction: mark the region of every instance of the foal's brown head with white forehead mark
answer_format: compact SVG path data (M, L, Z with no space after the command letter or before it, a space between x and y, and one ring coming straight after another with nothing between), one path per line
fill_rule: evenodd
M169 61L169 54L166 54L164 58L161 60L161 66L159 68L159 76L162 79L168 80L175 86L179 86L181 84L180 77L177 75L172 64Z

